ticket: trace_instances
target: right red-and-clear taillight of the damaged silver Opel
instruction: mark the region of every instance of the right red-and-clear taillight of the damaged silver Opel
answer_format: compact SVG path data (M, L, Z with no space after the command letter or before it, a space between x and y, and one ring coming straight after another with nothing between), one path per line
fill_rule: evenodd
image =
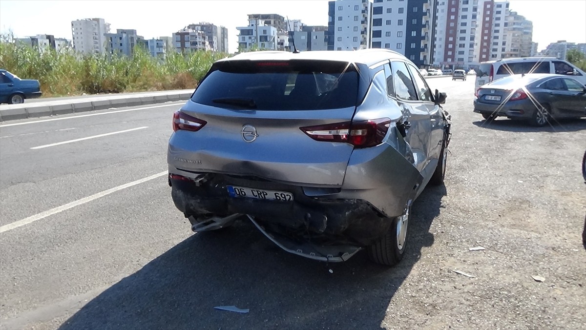
M374 147L383 142L389 131L391 120L379 118L352 123L336 123L300 127L309 137L316 141L346 142L356 148Z

